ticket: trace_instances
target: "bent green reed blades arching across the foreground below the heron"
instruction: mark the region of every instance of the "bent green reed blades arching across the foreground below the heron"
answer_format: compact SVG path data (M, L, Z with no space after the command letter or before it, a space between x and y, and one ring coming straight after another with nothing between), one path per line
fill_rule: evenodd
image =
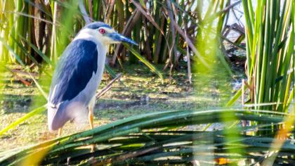
M226 117L226 121L221 115ZM225 124L233 122L232 115L239 120L267 122L268 125L251 127L237 125L236 128L230 128ZM39 160L36 157L44 151L45 158L40 160L42 165L192 164L192 162L255 165L268 160L273 152L267 150L276 139L272 135L250 136L248 133L268 129L271 124L275 126L284 124L282 121L284 115L286 114L271 111L237 109L180 110L136 115L86 132L11 151L0 159L0 165L18 165L27 158L34 158L29 162L31 165L37 164ZM214 131L202 131L197 128L198 125L206 125L208 122L224 125ZM225 132L238 132L239 139L232 138L230 142L225 141ZM91 153L89 146L93 144L97 148ZM231 148L232 153L225 153L227 148ZM244 151L242 153L236 151L239 148ZM294 152L295 146L292 140L285 140L275 158L275 164L294 163Z

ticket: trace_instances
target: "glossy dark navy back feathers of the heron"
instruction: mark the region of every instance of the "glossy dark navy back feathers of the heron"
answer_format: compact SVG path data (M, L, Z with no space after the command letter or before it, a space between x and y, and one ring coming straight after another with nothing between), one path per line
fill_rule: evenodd
M51 83L49 98L53 105L77 96L98 68L98 51L93 41L75 40L67 46L65 53L67 54L60 58ZM54 88L55 94L51 96Z

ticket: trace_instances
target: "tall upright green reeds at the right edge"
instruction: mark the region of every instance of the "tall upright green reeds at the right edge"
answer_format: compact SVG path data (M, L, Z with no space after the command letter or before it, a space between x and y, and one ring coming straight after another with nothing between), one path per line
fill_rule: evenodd
M294 102L292 1L258 1L256 9L251 1L242 2L247 23L249 100L256 109L286 113Z

